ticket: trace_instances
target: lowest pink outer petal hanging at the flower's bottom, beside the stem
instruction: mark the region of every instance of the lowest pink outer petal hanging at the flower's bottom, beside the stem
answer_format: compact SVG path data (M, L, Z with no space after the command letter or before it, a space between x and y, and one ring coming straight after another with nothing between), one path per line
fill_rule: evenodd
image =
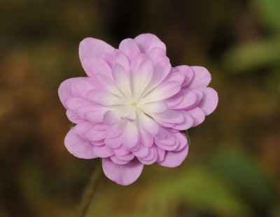
M122 186L127 186L134 183L134 181L139 178L144 165L136 159L130 161L126 165L118 165L109 158L103 158L102 167L104 174L109 179Z

